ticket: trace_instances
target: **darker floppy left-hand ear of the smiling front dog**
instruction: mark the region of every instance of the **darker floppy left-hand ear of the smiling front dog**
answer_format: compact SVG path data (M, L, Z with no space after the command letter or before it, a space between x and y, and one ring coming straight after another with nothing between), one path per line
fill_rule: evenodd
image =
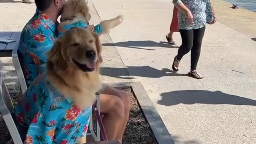
M68 69L68 62L64 60L62 55L62 44L61 39L57 40L54 45L52 46L52 49L47 53L48 60L54 64L56 68L59 68L62 71L65 71Z

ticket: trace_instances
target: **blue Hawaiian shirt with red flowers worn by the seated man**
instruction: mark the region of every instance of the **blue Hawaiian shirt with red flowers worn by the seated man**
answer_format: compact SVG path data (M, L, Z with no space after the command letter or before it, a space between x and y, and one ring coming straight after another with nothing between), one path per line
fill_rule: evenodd
M27 86L45 71L46 52L52 48L58 36L57 25L49 16L36 10L21 32L18 51L22 57L21 65Z

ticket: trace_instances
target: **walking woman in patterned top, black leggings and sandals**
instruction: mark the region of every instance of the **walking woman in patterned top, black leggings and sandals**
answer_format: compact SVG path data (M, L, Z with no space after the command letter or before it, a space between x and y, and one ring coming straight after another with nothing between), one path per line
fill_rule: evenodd
M216 21L210 0L172 0L178 8L178 28L182 44L175 56L172 69L179 70L180 60L191 50L191 66L189 74L197 79L203 76L196 71L199 60L206 22Z

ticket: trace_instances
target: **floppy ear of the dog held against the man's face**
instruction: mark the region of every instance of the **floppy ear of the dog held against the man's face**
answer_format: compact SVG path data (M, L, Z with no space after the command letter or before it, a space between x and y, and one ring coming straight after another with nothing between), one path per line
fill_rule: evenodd
M83 14L86 20L90 20L91 15L89 13L89 8L85 0L72 0L72 8L76 12L80 12L81 14Z

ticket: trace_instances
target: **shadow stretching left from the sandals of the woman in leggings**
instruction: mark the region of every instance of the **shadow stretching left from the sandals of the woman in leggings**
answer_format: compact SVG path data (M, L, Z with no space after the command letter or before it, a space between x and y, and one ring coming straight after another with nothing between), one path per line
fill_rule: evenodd
M163 68L158 70L150 66L127 66L126 68L110 68L102 67L101 72L103 76L111 76L114 78L134 79L133 76L140 76L146 78L161 78L164 76L189 76L188 74L174 73L172 70Z

